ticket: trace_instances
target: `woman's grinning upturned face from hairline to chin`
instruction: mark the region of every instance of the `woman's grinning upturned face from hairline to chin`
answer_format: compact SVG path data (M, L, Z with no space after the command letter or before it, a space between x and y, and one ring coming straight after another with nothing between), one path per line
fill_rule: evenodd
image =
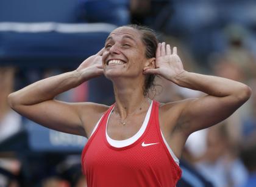
M105 42L102 55L105 77L144 77L143 67L149 61L145 50L138 30L132 27L113 30Z

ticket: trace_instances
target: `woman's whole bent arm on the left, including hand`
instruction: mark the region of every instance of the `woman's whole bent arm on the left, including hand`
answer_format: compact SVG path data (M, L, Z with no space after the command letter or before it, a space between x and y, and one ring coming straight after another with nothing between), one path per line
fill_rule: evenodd
M54 97L101 75L102 51L87 58L73 72L37 81L13 92L8 97L10 106L21 115L50 129L87 137L87 128L90 131L87 124L90 126L94 123L105 107L93 103L65 103L54 100Z

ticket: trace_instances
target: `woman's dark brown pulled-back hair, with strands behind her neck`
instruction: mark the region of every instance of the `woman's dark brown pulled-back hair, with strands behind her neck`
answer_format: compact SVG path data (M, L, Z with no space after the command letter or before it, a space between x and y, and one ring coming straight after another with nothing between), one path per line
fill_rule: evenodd
M132 27L133 29L138 30L141 33L141 40L146 47L146 58L154 58L155 53L157 52L157 35L154 30L150 29L149 27L142 26L142 25L126 25L126 27ZM143 88L143 95L146 96L149 94L149 89L154 89L155 86L155 75L146 75L144 88Z

